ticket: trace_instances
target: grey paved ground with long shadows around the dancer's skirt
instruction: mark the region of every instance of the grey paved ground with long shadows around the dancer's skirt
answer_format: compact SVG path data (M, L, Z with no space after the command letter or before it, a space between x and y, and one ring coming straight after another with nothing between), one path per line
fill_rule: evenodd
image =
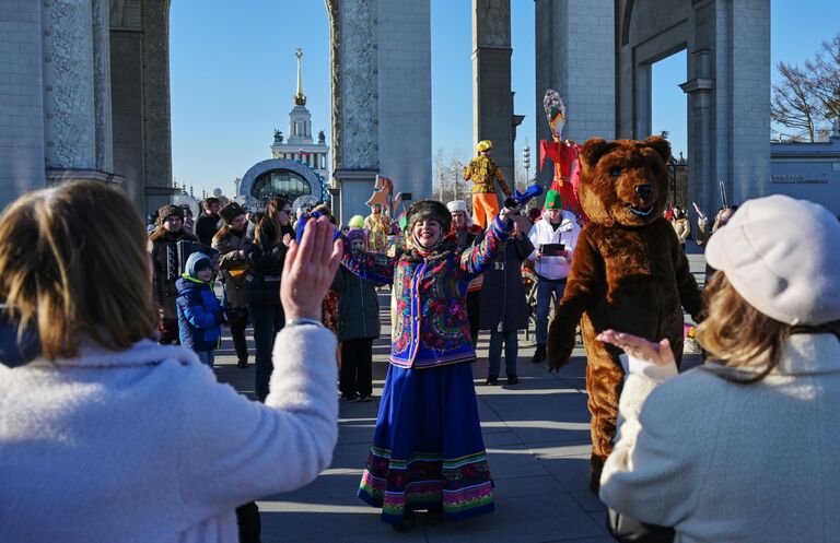
M690 255L702 280L702 256ZM382 307L387 307L382 304ZM382 314L383 323L388 316ZM374 396L378 398L389 349L389 328L374 344ZM579 344L559 374L532 364L532 341L520 335L521 382L485 385L487 340L481 335L474 365L481 428L495 482L497 510L476 519L424 526L397 533L380 521L380 510L355 497L373 437L378 402L341 403L338 446L328 470L308 486L259 501L264 543L276 542L481 542L607 543L604 505L588 491L590 415L585 356ZM533 337L532 337L533 340ZM693 358L693 359L692 359ZM687 357L688 366L697 357ZM218 352L217 375L243 393L254 391L253 364L235 366L230 338Z

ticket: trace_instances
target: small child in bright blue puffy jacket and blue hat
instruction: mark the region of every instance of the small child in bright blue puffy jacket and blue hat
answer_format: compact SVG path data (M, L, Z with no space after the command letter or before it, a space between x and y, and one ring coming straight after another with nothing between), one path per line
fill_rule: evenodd
M213 352L222 335L223 309L212 287L213 261L203 252L187 259L186 272L177 281L180 344L213 367Z

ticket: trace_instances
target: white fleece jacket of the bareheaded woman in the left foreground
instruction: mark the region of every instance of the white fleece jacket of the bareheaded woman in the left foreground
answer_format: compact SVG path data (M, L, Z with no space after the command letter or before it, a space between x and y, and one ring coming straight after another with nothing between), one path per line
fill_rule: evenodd
M285 328L266 404L184 347L0 365L0 541L238 541L234 508L315 479L337 439L336 339Z

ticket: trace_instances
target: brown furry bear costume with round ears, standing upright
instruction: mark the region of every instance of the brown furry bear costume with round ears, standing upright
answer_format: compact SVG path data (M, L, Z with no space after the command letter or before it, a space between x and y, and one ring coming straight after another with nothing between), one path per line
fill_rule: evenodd
M578 191L591 222L574 248L563 299L549 329L547 359L553 369L569 362L580 322L592 413L590 487L595 493L612 450L625 378L621 351L595 337L614 329L651 341L667 338L679 365L680 306L695 319L700 317L700 290L674 228L662 216L669 158L670 145L658 137L611 142L594 138L581 150Z

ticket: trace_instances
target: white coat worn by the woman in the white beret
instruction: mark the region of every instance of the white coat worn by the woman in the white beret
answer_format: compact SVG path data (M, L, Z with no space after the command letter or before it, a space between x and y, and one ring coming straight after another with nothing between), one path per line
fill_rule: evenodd
M833 334L792 335L755 385L696 368L657 387L634 363L600 479L605 504L675 527L676 543L840 540Z

